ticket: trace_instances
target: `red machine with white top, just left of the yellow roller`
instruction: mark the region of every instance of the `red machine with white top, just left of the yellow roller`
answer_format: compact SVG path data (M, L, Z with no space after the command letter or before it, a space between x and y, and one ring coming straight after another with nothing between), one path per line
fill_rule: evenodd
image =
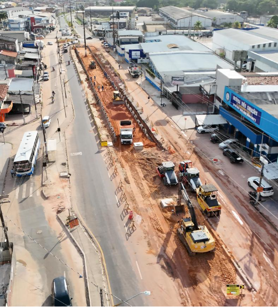
M182 174L183 182L189 184L192 191L196 191L202 185L200 171L197 167L192 167L191 160L181 161L179 171Z

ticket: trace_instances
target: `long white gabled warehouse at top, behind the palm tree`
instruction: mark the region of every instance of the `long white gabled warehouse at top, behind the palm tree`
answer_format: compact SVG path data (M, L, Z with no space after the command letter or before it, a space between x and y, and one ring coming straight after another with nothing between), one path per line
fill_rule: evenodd
M193 28L196 21L201 21L203 27L211 27L212 24L209 17L171 5L159 8L159 14L175 29Z

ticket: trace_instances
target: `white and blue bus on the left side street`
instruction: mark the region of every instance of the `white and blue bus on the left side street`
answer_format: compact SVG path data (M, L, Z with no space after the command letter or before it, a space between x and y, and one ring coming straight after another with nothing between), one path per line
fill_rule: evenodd
M40 144L38 131L28 131L24 133L13 160L16 176L30 176L33 174Z

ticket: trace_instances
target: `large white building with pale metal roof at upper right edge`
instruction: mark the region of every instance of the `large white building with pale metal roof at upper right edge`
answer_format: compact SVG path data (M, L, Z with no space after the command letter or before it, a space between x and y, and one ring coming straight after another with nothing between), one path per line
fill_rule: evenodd
M233 62L235 50L244 51L278 51L277 42L240 29L224 29L213 31L212 50Z

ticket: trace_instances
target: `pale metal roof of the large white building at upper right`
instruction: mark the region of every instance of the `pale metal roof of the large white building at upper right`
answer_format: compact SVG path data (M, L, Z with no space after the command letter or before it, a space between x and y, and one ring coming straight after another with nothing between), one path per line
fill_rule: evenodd
M229 38L231 40L249 46L274 43L274 41L258 37L256 35L249 33L249 31L239 30L239 29L218 30L213 32L213 36L215 35L221 35L224 36L225 38Z

